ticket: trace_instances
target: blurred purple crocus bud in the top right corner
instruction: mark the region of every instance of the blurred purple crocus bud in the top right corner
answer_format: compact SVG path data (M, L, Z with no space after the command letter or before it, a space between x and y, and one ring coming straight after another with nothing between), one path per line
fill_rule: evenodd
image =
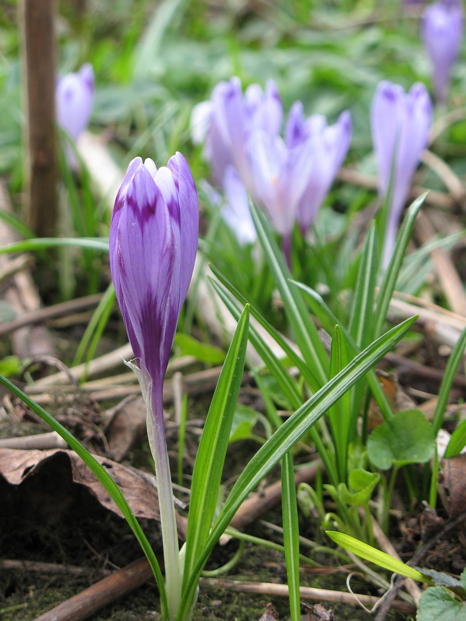
M450 73L461 48L463 25L459 2L434 2L423 13L421 35L431 58L432 81L439 102L447 99Z

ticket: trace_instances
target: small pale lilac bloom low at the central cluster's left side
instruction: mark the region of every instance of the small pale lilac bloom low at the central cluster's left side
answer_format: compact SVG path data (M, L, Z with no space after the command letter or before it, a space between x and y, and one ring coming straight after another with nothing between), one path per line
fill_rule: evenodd
M246 188L234 166L227 166L225 169L223 187L226 205L222 209L222 218L235 233L240 245L254 243L257 232L249 211Z

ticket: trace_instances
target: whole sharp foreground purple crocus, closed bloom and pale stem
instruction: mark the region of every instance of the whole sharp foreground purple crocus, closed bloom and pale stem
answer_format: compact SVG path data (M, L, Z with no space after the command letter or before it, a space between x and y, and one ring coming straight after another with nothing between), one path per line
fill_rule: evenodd
M163 378L198 244L199 205L181 153L157 170L135 158L116 197L110 268L126 332L139 368L132 365L147 407L147 432L155 461L167 580L174 617L180 601L180 564L170 466L163 427Z

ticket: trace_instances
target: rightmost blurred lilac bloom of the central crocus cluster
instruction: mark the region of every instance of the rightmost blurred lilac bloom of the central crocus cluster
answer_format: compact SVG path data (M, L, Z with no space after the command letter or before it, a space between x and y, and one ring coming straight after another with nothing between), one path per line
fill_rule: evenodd
M319 208L342 165L351 142L351 116L342 112L334 125L327 125L325 117L314 114L304 120L303 105L297 101L290 110L285 129L285 140L293 148L310 143L313 165L306 188L296 207L296 219L303 235L313 224Z

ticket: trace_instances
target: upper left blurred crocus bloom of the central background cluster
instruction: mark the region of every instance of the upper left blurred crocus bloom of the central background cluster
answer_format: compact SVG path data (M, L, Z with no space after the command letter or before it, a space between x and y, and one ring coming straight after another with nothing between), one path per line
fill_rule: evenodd
M244 94L239 78L222 81L212 91L210 101L194 108L193 140L205 139L204 155L219 186L226 167L234 165L247 188L251 188L247 140L257 129L278 134L282 117L280 95L272 80L267 82L265 92L258 84L251 84Z

